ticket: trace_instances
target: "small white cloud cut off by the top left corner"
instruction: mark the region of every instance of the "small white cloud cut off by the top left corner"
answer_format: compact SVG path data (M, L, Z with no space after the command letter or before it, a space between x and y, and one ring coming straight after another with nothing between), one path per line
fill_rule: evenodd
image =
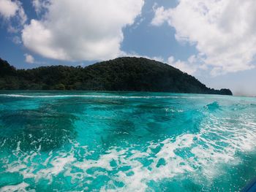
M20 1L0 0L0 16L7 21L7 30L11 33L20 31L27 20ZM12 23L15 23L15 26Z

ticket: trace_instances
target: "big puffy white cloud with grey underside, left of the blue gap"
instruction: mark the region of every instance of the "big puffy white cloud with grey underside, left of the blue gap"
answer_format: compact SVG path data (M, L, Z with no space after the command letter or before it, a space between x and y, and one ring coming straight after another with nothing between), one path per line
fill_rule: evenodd
M47 11L41 20L24 27L23 44L59 60L115 58L121 54L122 29L134 23L143 4L143 0L52 0L43 5Z

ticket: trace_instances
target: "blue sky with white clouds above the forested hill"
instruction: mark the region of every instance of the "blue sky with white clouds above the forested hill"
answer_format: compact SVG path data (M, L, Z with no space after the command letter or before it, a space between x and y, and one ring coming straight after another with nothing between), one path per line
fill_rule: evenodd
M146 57L256 96L255 0L0 0L0 23L17 69Z

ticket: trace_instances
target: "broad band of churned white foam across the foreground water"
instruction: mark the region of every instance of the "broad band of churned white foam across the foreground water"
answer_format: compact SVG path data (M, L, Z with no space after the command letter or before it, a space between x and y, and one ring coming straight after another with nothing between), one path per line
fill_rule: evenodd
M127 145L128 147L124 148L111 147L95 160L86 157L96 152L88 151L87 146L81 146L74 141L70 141L73 146L71 150L45 154L46 158L42 162L37 161L42 157L40 150L23 153L17 147L13 153L18 156L18 160L6 162L7 172L20 172L24 178L34 178L35 182L46 179L49 183L53 181L53 177L58 177L61 173L70 176L72 183L80 183L86 177L95 179L99 175L107 175L110 177L110 182L102 186L101 191L110 191L108 187L114 185L113 180L124 183L123 188L116 187L113 191L146 191L147 183L151 180L159 181L165 178L171 180L173 177L182 177L185 174L192 176L194 182L199 185L202 184L200 180L207 180L206 183L210 185L215 177L222 174L223 165L236 166L241 162L236 156L237 152L251 151L256 147L254 118L253 120L238 118L241 127L239 129L230 126L229 120L231 119L211 117L211 122L207 119L203 121L201 130L195 134L181 134L159 142L148 142L146 149L140 149L136 145ZM214 137L211 137L211 134ZM156 147L161 148L155 154ZM86 152L78 161L75 154L79 155L80 151ZM188 155L180 155L179 151L188 152ZM152 163L144 166L140 162L141 159ZM157 166L161 159L165 159L165 164ZM111 161L116 161L116 164L111 166ZM124 171L121 169L122 166L129 166L130 169ZM93 167L102 169L88 173L88 169ZM74 169L80 171L75 172ZM117 169L118 172L113 175L108 174L113 169ZM127 176L129 172L133 174Z

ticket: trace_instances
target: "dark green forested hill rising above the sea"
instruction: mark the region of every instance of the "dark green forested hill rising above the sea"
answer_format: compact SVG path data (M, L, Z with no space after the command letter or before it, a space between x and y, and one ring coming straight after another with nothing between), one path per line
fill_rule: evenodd
M195 77L147 58L116 58L86 67L15 69L0 59L0 90L163 91L232 95L207 88Z

